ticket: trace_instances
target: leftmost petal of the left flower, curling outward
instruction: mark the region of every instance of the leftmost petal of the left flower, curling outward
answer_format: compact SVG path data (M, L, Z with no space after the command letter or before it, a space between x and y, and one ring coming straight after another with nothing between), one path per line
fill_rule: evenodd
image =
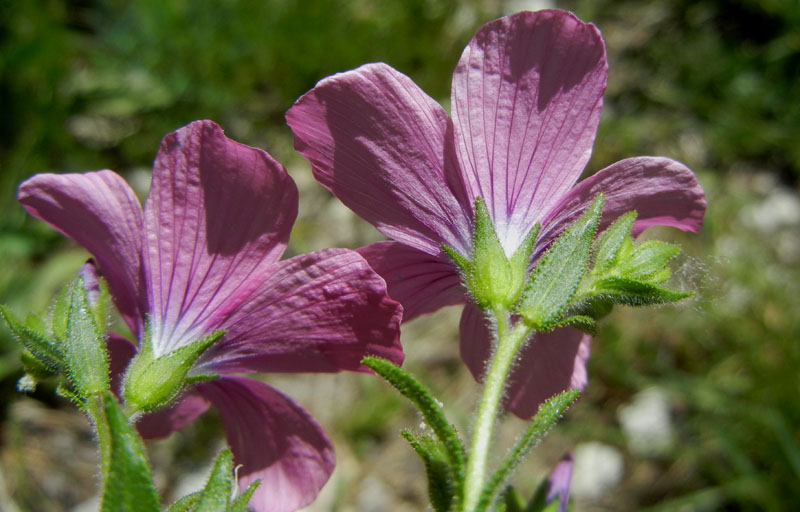
M117 308L138 333L144 317L142 208L125 180L112 171L37 174L20 185L18 199L94 255Z

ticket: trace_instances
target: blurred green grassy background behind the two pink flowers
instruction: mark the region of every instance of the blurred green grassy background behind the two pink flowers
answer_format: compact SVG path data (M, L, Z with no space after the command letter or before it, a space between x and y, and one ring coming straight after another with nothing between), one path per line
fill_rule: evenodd
M532 489L563 450L582 445L594 448L580 452L585 467L591 453L610 453L595 457L606 460L597 472L614 473L602 469L610 464L619 474L597 492L578 485L576 510L796 509L796 0L0 0L0 302L46 311L86 258L26 217L14 198L20 181L111 168L145 194L160 138L194 119L219 122L287 166L301 201L290 251L378 239L293 153L286 109L317 80L370 61L391 64L447 105L452 69L481 24L548 6L573 10L606 38L606 106L587 172L628 156L669 156L698 173L709 208L699 235L655 233L684 245L677 274L697 298L616 311L605 322L584 397L515 482ZM453 310L420 319L403 339L409 367L465 426L475 386L457 359L457 319ZM2 329L0 509L91 510L86 422L52 388L16 393L20 376ZM419 419L386 386L356 375L270 381L334 438L339 466L313 510L424 510L421 466L398 436ZM666 428L644 448L627 426L643 403L662 411L650 419L663 413ZM510 442L521 426L509 418L501 432ZM204 470L216 439L208 415L152 445L165 492Z

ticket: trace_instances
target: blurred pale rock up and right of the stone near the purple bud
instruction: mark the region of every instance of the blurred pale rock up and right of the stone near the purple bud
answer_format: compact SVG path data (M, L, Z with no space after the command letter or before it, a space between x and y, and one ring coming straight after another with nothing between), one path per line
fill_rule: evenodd
M669 396L658 388L634 395L630 404L617 411L628 447L637 455L658 455L675 444Z

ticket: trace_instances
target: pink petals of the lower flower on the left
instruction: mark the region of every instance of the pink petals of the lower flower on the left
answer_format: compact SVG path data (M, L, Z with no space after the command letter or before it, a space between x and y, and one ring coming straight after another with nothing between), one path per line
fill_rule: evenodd
M164 138L144 210L112 171L40 174L19 201L94 255L134 335L148 322L156 356L225 330L192 370L221 377L146 416L142 433L167 435L213 405L242 465L240 488L262 479L251 507L313 501L333 470L327 435L286 395L232 374L365 371L367 354L399 363L401 308L355 252L278 261L297 215L284 168L197 121ZM113 334L108 343L119 380L137 348Z

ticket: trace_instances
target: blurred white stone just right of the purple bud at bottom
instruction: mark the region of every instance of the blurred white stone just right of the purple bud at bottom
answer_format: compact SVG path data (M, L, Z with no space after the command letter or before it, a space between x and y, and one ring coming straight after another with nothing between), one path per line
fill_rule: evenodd
M575 447L570 494L597 500L622 481L625 463L622 454L604 443L582 443Z

